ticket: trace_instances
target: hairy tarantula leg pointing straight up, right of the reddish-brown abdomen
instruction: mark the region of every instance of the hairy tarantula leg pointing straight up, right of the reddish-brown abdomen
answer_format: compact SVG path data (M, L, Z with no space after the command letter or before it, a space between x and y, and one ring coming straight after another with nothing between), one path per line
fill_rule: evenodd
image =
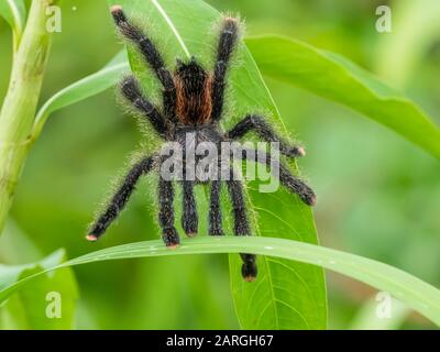
M239 23L235 19L227 18L223 20L220 40L217 47L217 59L213 69L213 81L212 81L212 112L211 120L213 122L219 121L223 110L224 99L224 78L227 75L228 66L230 64L231 54L235 47L237 40L239 36Z

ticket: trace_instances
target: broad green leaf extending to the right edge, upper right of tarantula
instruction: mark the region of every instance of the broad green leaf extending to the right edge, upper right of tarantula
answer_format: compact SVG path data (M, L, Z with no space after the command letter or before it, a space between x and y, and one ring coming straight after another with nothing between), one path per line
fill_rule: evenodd
M402 92L334 53L278 36L246 40L264 75L338 101L440 157L440 129Z

